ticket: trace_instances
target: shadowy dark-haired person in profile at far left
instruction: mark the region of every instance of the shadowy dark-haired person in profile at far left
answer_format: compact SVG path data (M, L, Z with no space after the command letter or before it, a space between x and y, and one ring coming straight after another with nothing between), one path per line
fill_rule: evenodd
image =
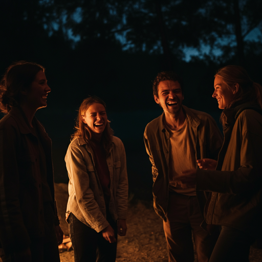
M3 261L58 262L51 140L35 112L51 91L45 69L18 61L0 85L0 241ZM17 245L19 243L19 245Z

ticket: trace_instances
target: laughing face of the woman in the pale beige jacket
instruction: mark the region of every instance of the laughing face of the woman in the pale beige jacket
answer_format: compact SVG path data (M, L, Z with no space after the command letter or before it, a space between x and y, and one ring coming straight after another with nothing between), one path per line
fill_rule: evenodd
M88 125L92 135L99 138L104 132L107 124L105 108L102 104L93 103L82 116L82 121Z

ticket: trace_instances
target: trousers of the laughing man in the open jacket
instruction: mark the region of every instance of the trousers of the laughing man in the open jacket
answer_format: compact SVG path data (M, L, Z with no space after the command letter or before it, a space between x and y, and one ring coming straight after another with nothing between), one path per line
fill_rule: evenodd
M210 235L200 227L203 222L197 197L169 193L167 222L164 231L169 262L193 262L194 248L198 262L207 262L213 251L219 230Z

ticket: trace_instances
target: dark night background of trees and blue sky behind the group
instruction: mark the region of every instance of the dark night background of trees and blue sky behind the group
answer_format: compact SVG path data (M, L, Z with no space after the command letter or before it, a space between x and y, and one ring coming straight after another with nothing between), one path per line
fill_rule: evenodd
M125 145L129 193L148 200L143 132L162 113L152 80L177 71L184 104L219 122L211 97L217 69L240 64L262 83L261 11L259 0L0 0L0 74L16 60L46 68L52 92L36 115L53 140L58 183L68 182L63 159L80 103L102 98Z

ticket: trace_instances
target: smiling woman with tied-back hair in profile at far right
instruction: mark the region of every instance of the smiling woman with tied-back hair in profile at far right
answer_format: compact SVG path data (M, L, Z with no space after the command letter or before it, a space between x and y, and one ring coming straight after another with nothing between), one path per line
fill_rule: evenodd
M198 160L201 169L185 171L181 186L212 192L205 220L221 233L209 262L246 262L262 229L262 86L228 65L216 73L214 89L224 110L219 159Z

